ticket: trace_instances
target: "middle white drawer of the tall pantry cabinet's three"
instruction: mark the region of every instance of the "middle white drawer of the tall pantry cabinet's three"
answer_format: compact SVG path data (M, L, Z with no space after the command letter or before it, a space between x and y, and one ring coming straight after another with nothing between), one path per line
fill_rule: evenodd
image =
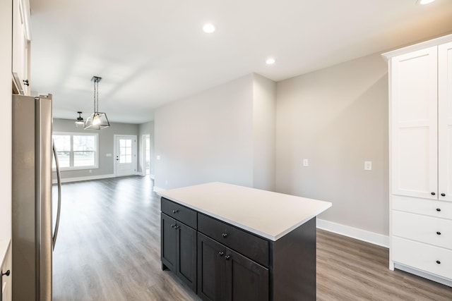
M452 250L452 221L393 210L393 235Z

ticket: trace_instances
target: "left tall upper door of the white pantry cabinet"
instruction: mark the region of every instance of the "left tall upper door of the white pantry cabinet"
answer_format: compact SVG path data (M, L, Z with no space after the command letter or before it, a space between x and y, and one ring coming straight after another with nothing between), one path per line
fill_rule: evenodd
M392 193L437 199L437 47L391 59Z

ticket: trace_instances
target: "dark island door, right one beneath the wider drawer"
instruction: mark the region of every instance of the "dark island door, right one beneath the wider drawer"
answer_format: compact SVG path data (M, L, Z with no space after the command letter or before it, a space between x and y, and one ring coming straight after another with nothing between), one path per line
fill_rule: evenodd
M227 300L268 301L268 269L227 250Z

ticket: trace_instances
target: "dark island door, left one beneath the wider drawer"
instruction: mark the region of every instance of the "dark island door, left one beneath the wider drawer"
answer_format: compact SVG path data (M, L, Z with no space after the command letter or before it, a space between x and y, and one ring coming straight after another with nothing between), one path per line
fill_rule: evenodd
M198 296L226 301L226 247L198 233Z

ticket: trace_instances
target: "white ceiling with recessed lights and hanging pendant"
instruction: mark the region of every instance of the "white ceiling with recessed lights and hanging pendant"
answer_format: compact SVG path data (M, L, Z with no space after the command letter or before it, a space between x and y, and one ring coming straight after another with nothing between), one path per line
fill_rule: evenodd
M54 116L153 109L249 73L279 81L452 31L452 0L30 0L31 87ZM206 34L203 23L217 31ZM268 56L276 63L266 65Z

